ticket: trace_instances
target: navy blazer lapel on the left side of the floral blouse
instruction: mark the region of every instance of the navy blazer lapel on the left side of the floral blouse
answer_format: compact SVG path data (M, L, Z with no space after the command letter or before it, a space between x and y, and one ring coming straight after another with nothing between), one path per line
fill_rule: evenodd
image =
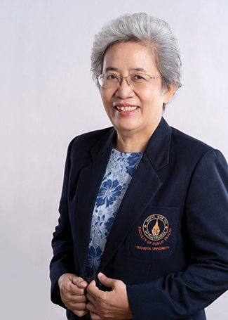
M90 222L95 200L98 195L107 162L112 151L116 132L111 129L90 151L92 162L81 169L76 188L74 204L73 228L76 243L76 256L81 276L85 276L90 237Z

